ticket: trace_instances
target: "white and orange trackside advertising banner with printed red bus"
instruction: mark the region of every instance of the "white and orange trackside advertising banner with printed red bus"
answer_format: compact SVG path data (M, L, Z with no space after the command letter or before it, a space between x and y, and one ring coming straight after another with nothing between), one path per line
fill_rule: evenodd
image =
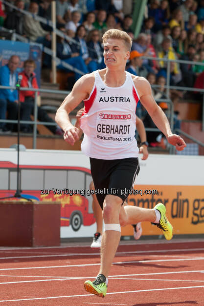
M17 152L0 149L0 197L14 195ZM204 156L150 154L140 160L140 173L128 204L153 208L162 202L174 234L204 234ZM26 150L20 152L23 197L61 201L61 238L92 237L96 230L90 193L89 158L80 151ZM125 191L124 191L125 192ZM150 222L143 235L160 235ZM131 225L122 235L132 236Z

